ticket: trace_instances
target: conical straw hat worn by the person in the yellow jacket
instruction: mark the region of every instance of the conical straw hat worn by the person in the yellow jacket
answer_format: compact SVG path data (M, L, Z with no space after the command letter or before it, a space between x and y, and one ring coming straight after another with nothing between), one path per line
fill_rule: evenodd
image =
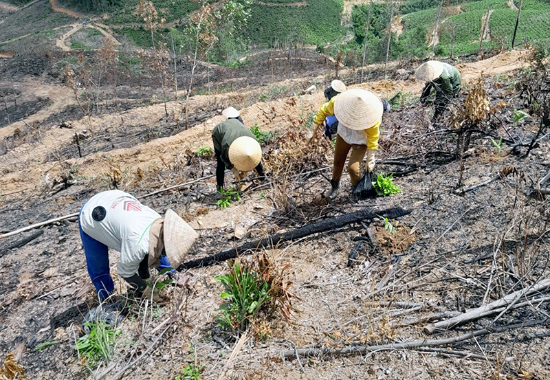
M334 115L340 123L356 131L369 129L382 119L380 98L369 90L351 89L334 102Z

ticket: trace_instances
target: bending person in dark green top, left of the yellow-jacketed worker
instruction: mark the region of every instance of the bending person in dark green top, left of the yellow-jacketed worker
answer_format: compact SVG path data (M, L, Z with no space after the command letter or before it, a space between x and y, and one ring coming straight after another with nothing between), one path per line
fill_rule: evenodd
M265 179L261 163L262 149L256 137L239 120L239 111L233 107L223 110L228 120L214 126L212 142L216 155L216 190L219 197L223 190L225 169L230 169L237 181L241 181L246 172L254 169L260 179Z

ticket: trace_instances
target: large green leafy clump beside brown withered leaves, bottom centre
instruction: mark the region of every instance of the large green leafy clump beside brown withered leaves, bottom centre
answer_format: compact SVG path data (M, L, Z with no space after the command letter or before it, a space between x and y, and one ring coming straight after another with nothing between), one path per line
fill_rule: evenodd
M221 293L225 303L220 306L219 324L224 328L244 330L270 298L270 286L259 273L243 267L239 260L230 262L229 269L228 274L216 277L225 289Z

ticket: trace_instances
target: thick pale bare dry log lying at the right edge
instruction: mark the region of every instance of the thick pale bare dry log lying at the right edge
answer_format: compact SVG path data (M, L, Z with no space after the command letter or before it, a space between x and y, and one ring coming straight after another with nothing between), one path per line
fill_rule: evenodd
M544 280L541 280L539 282L536 282L536 284L531 285L531 287L514 291L514 293L510 293L509 295L500 298L500 300L496 300L489 304L479 306L476 309L471 309L469 311L466 311L465 313L462 313L461 315L452 317L449 320L430 324L426 326L426 328L424 328L424 331L426 331L426 333L432 334L434 333L434 331L448 330L449 328L453 328L454 326L459 326L460 324L465 324L467 322L477 320L487 315L505 311L507 306L509 306L511 303L515 303L519 298L527 297L528 295L531 295L533 293L538 293L540 291L548 289L549 287L550 278L545 278Z

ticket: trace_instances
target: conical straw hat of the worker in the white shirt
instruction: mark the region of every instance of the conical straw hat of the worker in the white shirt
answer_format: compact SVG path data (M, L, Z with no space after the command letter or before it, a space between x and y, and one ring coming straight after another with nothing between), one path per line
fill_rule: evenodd
M164 249L173 268L179 267L199 234L175 212L168 209L164 214Z

